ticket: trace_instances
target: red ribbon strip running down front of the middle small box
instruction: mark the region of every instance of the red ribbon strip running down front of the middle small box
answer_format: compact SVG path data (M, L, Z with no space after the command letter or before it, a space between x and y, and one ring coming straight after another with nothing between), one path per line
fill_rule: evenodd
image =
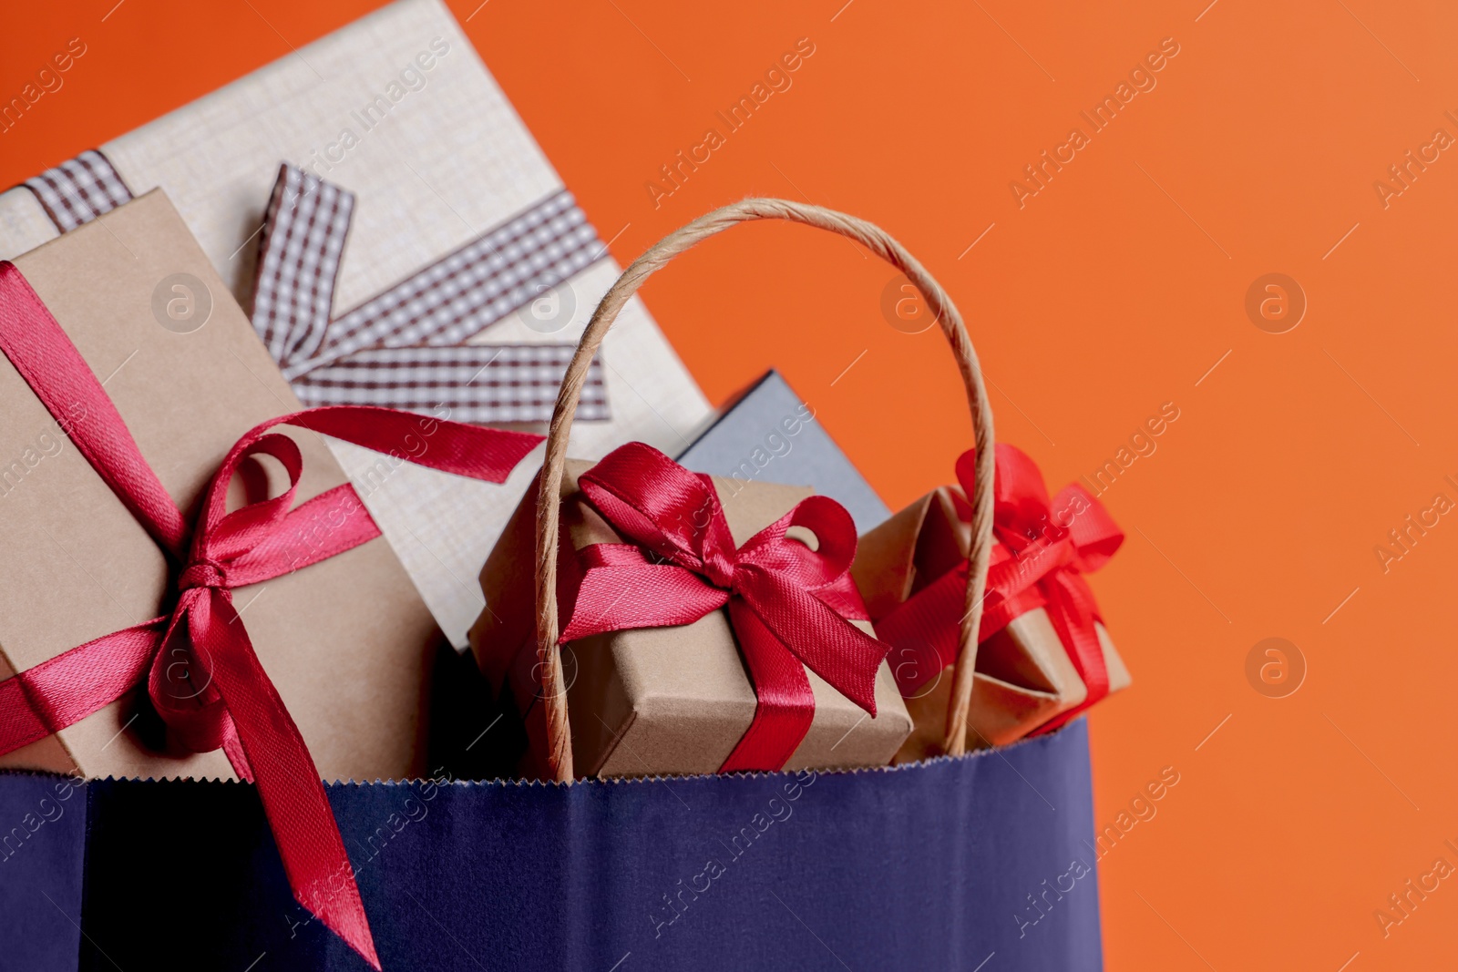
M754 720L719 772L781 769L815 718L815 694L805 666L764 625L742 597L729 600L729 619L758 697Z

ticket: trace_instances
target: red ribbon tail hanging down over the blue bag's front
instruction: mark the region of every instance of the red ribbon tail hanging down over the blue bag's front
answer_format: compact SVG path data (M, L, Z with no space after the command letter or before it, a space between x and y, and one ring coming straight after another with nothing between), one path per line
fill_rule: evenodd
M238 612L226 595L211 590L190 606L188 630L201 648L197 657L214 666L213 682L236 727L232 737L243 750L245 765L252 768L295 898L379 969L354 869L319 771L258 663Z

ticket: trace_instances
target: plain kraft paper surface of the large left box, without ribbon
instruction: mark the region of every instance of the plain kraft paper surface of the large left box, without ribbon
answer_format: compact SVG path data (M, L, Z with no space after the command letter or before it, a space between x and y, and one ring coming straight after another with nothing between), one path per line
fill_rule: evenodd
M187 516L242 433L300 408L160 191L15 265L104 382ZM176 281L185 290L174 290ZM169 316L169 300L190 303ZM7 564L0 675L10 676L163 614L175 577L156 541L6 358L0 412L0 456L7 459L0 471ZM96 417L82 409L70 420ZM321 436L280 431L303 453L299 501L347 482ZM325 780L421 775L424 695L440 635L388 544L376 539L239 587L235 603ZM133 694L16 749L0 765L86 777L235 775L223 750L187 753L163 742L156 716Z

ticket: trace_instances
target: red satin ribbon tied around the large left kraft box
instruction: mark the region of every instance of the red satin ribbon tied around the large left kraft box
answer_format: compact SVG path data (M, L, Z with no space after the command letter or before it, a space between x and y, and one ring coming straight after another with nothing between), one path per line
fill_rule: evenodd
M87 641L0 682L0 753L66 729L144 683L172 736L192 752L222 746L238 775L258 785L299 904L378 969L354 871L319 772L258 663L232 592L359 546L379 536L379 528L348 484L292 509L302 456L292 439L268 430L287 424L394 455L410 436L424 434L430 447L411 462L490 482L503 482L541 436L375 407L311 408L271 418L223 459L188 538L182 513L95 373L9 262L0 262L0 351L117 498L174 563L184 564L168 615ZM70 420L77 407L85 421ZM229 513L229 482L264 455L289 474L287 491L252 498Z

